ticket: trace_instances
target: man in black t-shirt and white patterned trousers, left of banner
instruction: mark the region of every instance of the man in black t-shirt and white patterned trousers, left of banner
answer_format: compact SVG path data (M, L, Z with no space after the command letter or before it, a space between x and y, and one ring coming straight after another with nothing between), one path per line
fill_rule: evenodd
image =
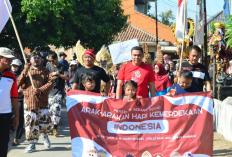
M68 71L59 64L58 57L55 52L49 53L48 59L51 63L47 64L46 68L49 69L54 83L54 87L49 92L49 111L51 113L52 124L54 124L52 134L54 136L58 136L59 133L57 128L61 119L61 104L62 97L64 96L65 80L68 81L69 78Z

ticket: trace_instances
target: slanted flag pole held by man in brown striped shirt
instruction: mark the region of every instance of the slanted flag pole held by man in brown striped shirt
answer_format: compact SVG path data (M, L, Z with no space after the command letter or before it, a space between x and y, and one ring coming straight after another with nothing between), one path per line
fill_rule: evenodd
M5 2L5 5L6 5L6 8L7 8L7 11L8 11L8 13L9 13L11 22L12 22L12 24L13 24L13 27L14 27L15 34L16 34L16 37L17 37L18 42L19 42L19 46L20 46L21 52L22 52L22 54L23 54L23 59L24 59L24 61L25 61L25 64L27 64L27 60L26 60L26 57L25 57L25 54L24 54L24 51L23 51L23 46L22 46L21 40L20 40L20 38L19 38L19 34L18 34L18 31L17 31L17 28L16 28L15 23L14 23L14 19L13 19L12 15L11 15L11 12L10 12L10 9L9 9L9 6L8 6L7 1L4 0L4 2ZM34 88L35 88L35 85L34 85L34 83L33 83L33 79L32 79L30 70L28 70L28 76L29 76L29 78L30 78L32 88L34 89Z

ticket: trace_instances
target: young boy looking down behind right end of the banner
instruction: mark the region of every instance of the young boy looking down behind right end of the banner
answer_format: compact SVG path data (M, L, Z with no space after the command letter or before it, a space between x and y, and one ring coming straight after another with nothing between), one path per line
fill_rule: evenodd
M199 92L197 87L195 87L192 84L193 80L193 74L190 70L183 70L180 74L180 82L179 84L175 84L171 86L168 90L167 95L171 95L170 91L171 89L176 90L176 95L177 94L184 94L184 93L192 93L192 92Z

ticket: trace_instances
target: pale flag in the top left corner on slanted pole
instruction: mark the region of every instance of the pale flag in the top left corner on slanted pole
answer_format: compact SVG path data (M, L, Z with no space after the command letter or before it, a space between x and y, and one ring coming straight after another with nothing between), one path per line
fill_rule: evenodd
M0 0L0 33L2 32L3 28L5 27L8 19L10 18L8 12L7 12L7 8L6 5L4 3L5 0ZM8 3L10 12L12 12L12 7L11 4L9 2L9 0L6 0L6 2Z

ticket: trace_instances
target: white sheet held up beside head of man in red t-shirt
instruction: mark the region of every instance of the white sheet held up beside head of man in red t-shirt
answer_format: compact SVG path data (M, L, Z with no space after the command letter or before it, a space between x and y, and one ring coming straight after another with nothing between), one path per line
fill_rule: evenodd
M121 43L109 45L110 55L113 64L119 64L132 60L131 49L134 46L139 46L137 39L132 39Z

